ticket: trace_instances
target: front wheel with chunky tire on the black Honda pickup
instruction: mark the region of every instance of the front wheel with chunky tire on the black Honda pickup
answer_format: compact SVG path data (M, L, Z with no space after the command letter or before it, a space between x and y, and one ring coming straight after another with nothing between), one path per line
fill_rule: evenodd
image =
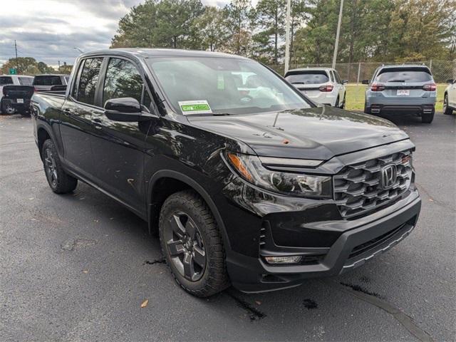
M229 287L222 236L197 193L170 195L160 211L159 231L167 265L185 291L207 297Z

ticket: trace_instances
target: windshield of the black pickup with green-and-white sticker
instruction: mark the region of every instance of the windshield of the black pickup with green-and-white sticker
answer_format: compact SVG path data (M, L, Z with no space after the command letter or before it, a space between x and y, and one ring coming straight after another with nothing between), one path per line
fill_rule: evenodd
M177 113L249 114L311 106L254 61L175 57L148 58L147 63Z

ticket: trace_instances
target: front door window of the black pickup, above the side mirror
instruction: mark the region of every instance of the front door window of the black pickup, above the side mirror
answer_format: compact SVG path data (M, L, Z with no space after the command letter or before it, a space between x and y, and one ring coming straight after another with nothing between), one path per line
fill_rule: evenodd
M103 104L111 98L135 98L141 103L142 86L141 75L133 63L110 58L103 87Z

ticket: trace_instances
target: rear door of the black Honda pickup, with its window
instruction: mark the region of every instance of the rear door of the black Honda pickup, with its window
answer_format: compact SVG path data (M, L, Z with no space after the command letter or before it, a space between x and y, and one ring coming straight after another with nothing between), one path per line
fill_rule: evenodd
M95 175L90 136L95 133L92 116L103 113L95 103L103 57L80 63L67 100L61 108L61 137L67 164L89 180Z

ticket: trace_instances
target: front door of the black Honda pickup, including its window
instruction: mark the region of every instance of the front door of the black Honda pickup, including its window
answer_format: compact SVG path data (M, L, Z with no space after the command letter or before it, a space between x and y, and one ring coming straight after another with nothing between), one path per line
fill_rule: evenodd
M100 103L113 98L135 98L147 110L151 104L150 94L139 66L120 57L110 57L106 62ZM93 113L92 121L97 128L92 136L92 150L98 184L130 209L144 215L144 148L150 122L113 121L102 111Z

